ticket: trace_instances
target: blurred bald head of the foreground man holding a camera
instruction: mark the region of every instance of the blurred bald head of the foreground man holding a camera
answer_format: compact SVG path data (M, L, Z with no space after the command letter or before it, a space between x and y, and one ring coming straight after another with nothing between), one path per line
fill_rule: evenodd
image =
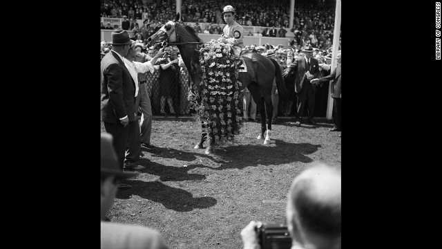
M340 248L341 176L327 165L316 165L291 184L287 223L294 240L313 248Z

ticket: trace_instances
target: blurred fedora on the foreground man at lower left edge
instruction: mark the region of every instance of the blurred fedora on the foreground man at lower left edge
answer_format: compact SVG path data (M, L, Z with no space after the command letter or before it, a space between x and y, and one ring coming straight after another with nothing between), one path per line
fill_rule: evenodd
M111 134L102 133L102 175L126 179L140 174L137 172L123 172L123 170L118 167L118 157L112 142L113 136Z

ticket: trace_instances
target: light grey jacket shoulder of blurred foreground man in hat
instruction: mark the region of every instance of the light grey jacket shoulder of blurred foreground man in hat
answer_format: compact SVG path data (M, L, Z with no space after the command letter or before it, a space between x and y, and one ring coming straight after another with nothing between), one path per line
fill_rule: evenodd
M161 234L141 225L102 221L102 249L167 249Z

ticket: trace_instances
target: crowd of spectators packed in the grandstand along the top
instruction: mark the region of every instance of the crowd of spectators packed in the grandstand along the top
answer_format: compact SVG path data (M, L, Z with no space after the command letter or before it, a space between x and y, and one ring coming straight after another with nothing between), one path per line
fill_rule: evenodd
M202 1L189 0L182 2L182 19L186 22L195 22L195 31L202 34L221 34L224 24L222 8L227 1ZM263 1L247 0L237 3L235 8L236 21L243 26L266 27L262 32L249 32L245 36L258 37L285 37L289 27L290 1ZM146 39L153 35L167 21L175 17L175 1L153 0L145 5L141 0L102 0L102 17L124 18L122 27L102 23L102 29L119 29L133 31L137 39L146 44ZM146 12L147 16L142 17ZM140 27L136 19L143 19ZM200 23L212 25L205 28ZM294 41L297 45L311 44L314 48L327 50L332 46L334 30L334 6L325 5L322 1L309 2L296 1L294 11Z

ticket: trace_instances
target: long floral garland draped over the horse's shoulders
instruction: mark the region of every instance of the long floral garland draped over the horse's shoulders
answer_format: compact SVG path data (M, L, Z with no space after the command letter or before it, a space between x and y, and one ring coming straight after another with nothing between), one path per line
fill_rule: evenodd
M213 133L215 142L233 140L240 133L242 118L238 107L241 82L238 80L237 65L240 59L233 57L231 44L212 40L197 48L200 56L198 68L201 78L200 93L189 92L188 100L202 122L203 132ZM209 140L211 139L208 136Z

